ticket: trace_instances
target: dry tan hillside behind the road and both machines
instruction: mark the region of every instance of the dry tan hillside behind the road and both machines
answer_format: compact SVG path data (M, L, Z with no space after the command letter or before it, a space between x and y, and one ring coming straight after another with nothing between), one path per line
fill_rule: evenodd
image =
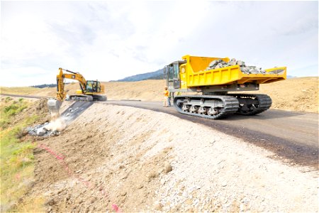
M140 99L142 101L162 102L164 80L145 80L140 82L103 82L108 99ZM67 84L69 94L79 89L79 84ZM19 90L16 87L1 87L2 93L33 94L55 97L55 88L30 88ZM272 109L308 111L318 113L318 77L297 77L280 82L260 85L260 90L250 93L268 94L272 97Z

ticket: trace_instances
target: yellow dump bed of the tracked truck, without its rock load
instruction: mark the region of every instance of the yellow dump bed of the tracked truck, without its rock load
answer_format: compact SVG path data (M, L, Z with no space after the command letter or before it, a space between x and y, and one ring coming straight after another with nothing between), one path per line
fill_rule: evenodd
M286 67L275 67L265 70L264 74L246 74L239 65L223 67L216 70L205 70L209 63L216 59L229 61L229 58L208 58L185 55L187 87L201 87L222 84L244 84L254 82L265 84L286 79Z

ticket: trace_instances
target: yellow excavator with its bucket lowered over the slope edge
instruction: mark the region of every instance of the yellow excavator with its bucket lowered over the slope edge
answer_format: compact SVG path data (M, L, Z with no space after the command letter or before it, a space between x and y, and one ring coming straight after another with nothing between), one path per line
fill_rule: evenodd
M65 72L69 73L65 73ZM69 95L68 99L76 101L106 101L104 94L104 85L97 80L85 80L83 75L79 72L72 72L59 68L57 74L57 95L55 99L49 99L47 106L49 107L51 114L59 114L59 110L62 102L67 98L67 91L65 90L65 79L77 80L81 89L77 89L76 94Z

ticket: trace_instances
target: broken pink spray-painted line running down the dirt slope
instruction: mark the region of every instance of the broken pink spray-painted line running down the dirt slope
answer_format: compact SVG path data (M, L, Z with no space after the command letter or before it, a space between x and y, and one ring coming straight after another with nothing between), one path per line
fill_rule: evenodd
M40 146L38 146L39 148L43 148L45 149L45 151L47 151L48 153L50 153L51 155L55 156L55 158L57 158L57 160L60 160L59 163L65 167L65 170L67 171L67 174L69 176L74 175L74 177L79 180L79 182L82 182L82 184L84 184L86 187L89 187L90 189L92 189L92 184L89 181L85 181L83 178L79 178L79 175L72 173L72 171L69 169L69 167L67 166L67 163L65 163L65 157L63 155L58 155L57 153L55 153L54 151L52 151L50 148L48 148L47 146L40 144ZM101 192L101 195L103 195L105 198L108 197L106 190L104 190L101 187L101 190L99 190ZM120 208L118 207L118 205L116 204L112 204L112 209L116 212L116 213L121 213Z

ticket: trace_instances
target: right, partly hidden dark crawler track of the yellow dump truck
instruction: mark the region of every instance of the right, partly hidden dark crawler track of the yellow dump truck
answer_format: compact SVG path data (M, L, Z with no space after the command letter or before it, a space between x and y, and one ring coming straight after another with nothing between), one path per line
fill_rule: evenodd
M237 114L255 115L272 106L272 99L267 94L228 94L239 102Z

